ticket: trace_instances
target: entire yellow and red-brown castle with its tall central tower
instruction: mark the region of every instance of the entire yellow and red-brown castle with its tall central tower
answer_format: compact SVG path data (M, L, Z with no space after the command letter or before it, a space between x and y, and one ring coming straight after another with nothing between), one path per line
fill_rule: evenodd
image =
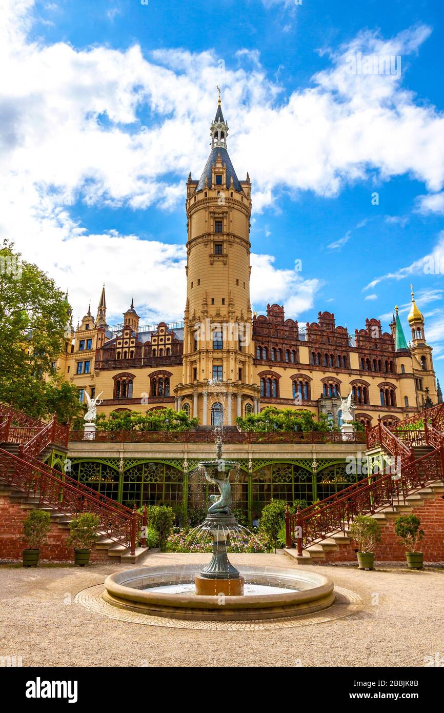
M85 392L102 393L100 411L173 406L202 426L227 425L264 406L307 409L341 422L341 399L353 391L353 413L366 426L378 416L391 426L424 405L442 401L432 347L411 292L409 344L396 308L391 332L378 319L349 334L334 314L318 322L286 319L284 307L252 314L249 299L249 175L239 180L227 152L228 125L219 106L210 127L212 149L200 180L187 180L187 299L183 322L140 325L134 301L123 322L106 322L105 286L91 309L66 333L53 369ZM222 381L224 404L208 398ZM222 411L225 413L222 414Z

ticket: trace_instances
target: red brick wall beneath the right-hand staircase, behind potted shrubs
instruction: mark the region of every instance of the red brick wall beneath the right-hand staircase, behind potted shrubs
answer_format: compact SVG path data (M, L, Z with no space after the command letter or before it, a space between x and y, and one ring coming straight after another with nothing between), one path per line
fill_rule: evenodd
M424 530L418 550L424 553L424 562L444 562L444 500L442 493L435 493L432 500L423 501L423 505L413 508L413 513L420 519L420 527ZM395 520L388 520L381 526L382 542L376 546L375 561L405 562L406 550L400 545L395 535ZM355 562L358 545L339 544L336 552L326 552L321 563Z

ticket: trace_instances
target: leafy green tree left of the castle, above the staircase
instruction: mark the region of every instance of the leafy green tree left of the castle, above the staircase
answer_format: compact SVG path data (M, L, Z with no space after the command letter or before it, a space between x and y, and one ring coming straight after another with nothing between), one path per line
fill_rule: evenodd
M36 417L67 418L78 409L76 389L51 373L64 348L66 297L51 277L0 247L0 401ZM61 391L61 393L58 393Z

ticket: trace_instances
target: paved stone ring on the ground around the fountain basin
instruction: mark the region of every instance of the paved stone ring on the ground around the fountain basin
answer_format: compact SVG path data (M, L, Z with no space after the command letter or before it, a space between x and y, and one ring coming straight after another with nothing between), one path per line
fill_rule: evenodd
M321 612L303 614L298 617L283 617L282 619L251 620L234 622L204 622L188 621L185 619L169 619L167 617L154 617L149 614L138 614L138 612L125 611L113 607L103 600L103 585L94 585L81 590L74 597L74 602L80 604L91 612L100 614L110 619L128 622L130 624L143 624L148 626L160 626L170 629L197 629L197 630L220 630L220 631L262 631L267 629L291 629L293 627L307 626L310 624L322 624L346 617L354 612L363 609L363 601L355 592L342 587L335 587L336 600L331 607Z

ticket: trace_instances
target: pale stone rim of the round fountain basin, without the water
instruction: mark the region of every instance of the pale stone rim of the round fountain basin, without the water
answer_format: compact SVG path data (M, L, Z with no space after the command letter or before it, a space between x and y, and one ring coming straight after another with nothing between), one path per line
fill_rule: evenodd
M105 590L111 597L128 602L141 602L145 605L163 605L165 607L183 607L192 609L214 609L217 595L189 595L156 593L155 590L141 590L137 584L150 585L155 578L158 585L186 583L194 580L202 564L196 565L164 565L160 567L140 567L123 572L115 572L105 580ZM289 605L304 605L306 602L316 602L333 597L334 583L325 575L307 570L292 570L290 568L271 567L240 567L241 574L249 583L264 583L263 578L269 575L279 578L284 585L301 588L299 591L273 595L242 595L227 597L227 609L261 609L264 607L286 607ZM175 580L175 581L174 581ZM260 580L260 581L257 581Z

